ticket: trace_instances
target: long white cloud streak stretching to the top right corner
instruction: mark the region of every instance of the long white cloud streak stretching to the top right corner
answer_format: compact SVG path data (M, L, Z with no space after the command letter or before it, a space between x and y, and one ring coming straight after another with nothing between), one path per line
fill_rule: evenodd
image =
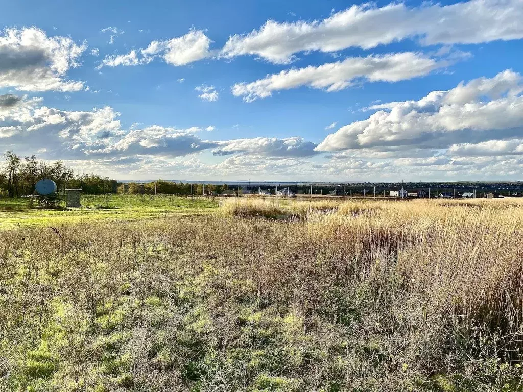
M353 5L323 20L268 20L258 30L229 38L221 55L257 55L289 63L303 51L375 48L407 38L422 45L482 43L523 38L521 0L470 0L451 5Z

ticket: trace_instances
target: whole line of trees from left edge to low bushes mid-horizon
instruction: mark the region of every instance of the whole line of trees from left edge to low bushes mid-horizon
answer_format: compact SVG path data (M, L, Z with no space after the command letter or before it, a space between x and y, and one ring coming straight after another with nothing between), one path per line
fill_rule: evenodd
M36 183L42 178L53 180L58 193L64 193L65 189L81 189L86 194L191 194L188 182L158 180L123 184L95 173L75 173L61 160L49 163L36 155L21 157L13 151L6 151L4 162L0 162L0 196L14 198L33 194ZM211 195L226 189L229 187L225 184L194 184L192 194Z

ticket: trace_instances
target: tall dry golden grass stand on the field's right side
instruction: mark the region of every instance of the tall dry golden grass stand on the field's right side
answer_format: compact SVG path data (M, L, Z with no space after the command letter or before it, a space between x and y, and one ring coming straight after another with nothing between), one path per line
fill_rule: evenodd
M231 212L234 206L234 212ZM441 314L502 322L523 320L523 200L372 199L278 201L243 198L221 206L228 216L281 216L304 221L293 241L343 235L360 251L393 260L409 290ZM249 210L252 210L249 212ZM277 210L277 213L273 211ZM360 246L361 246L360 245ZM372 257L371 257L372 258Z

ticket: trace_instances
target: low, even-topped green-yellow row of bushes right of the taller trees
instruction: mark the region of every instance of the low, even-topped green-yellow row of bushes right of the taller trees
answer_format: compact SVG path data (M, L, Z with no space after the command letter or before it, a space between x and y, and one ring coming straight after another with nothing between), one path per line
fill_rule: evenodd
M188 182L173 182L173 181L152 181L146 183L129 182L121 184L118 187L120 194L195 194L195 195L212 195L223 192L229 189L229 186L211 185L211 184L193 184L191 192L191 184Z

